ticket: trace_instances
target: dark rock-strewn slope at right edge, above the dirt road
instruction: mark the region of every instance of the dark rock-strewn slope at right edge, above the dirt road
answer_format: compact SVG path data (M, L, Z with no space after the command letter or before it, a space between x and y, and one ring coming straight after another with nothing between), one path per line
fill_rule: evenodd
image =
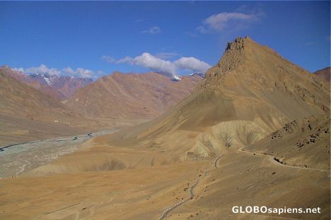
M272 155L283 164L330 169L330 117L291 121L246 149Z

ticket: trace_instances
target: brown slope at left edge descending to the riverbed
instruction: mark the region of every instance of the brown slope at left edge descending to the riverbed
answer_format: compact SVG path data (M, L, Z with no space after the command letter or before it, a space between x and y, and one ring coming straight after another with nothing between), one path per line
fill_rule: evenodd
M53 97L0 71L0 146L59 135L86 133L83 124Z

